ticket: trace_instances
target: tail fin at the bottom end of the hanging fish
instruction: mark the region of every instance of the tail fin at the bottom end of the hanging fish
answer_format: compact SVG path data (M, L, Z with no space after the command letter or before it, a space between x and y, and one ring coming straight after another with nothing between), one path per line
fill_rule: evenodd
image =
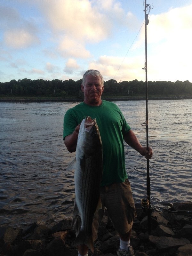
M94 252L92 234L87 234L84 230L80 230L74 241L74 245L78 244L85 244L92 251L92 253Z

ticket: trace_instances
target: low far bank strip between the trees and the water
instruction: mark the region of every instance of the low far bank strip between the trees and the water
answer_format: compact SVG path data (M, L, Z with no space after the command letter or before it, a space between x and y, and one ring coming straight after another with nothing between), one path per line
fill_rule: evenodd
M148 100L191 100L192 96L175 96L175 97L148 97ZM109 97L103 97L102 100L108 100L108 101L129 101L129 100L146 100L145 97L119 97L119 98L109 98ZM14 99L14 98L6 98L6 99L0 99L0 102L80 102L83 101L83 99L60 99L60 98L47 98L47 99L39 99L39 98L20 98L20 99Z

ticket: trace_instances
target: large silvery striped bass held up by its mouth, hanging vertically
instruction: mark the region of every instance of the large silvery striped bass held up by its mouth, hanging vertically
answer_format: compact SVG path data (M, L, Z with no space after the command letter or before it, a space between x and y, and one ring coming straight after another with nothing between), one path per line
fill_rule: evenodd
M85 244L92 252L92 222L94 213L102 208L100 181L103 172L102 142L95 119L87 116L81 123L75 168L74 215L80 215L81 228L74 244Z

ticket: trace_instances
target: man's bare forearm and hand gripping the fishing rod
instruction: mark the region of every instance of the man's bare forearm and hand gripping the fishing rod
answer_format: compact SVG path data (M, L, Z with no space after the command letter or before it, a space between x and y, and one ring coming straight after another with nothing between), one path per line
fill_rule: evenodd
M145 156L145 158L150 159L153 155L152 149L149 147L149 150L147 150L146 147L142 147L139 140L137 139L137 136L135 133L130 130L124 135L124 141L132 148L137 150L142 156Z

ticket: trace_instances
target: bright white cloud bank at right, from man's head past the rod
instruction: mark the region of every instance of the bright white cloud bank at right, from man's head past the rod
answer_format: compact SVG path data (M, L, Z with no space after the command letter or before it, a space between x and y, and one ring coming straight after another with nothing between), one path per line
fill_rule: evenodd
M191 12L192 5L189 5L149 17L148 81L191 80ZM144 29L143 26L139 40L124 60L118 56L100 56L98 60L91 61L89 68L100 70L106 80L145 81L145 70L142 70L145 66Z

